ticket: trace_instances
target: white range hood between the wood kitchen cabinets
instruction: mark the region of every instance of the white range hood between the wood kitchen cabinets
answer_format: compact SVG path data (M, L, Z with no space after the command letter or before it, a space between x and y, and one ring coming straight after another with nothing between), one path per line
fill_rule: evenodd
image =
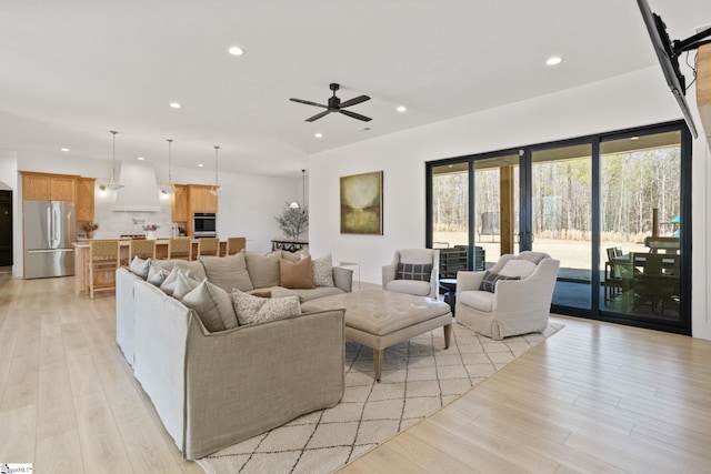
M113 210L121 212L159 212L160 189L156 170L150 163L121 161L119 182L124 185L116 192Z

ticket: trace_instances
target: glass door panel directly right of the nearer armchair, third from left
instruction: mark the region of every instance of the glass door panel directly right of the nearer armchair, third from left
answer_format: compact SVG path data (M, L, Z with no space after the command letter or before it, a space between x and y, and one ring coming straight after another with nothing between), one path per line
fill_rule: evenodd
M592 144L531 152L532 250L560 260L553 304L592 307Z

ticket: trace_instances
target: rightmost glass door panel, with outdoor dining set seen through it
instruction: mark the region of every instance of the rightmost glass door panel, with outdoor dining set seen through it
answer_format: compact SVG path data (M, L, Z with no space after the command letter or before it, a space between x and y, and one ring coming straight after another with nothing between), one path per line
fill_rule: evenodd
M681 132L601 143L600 310L679 322Z

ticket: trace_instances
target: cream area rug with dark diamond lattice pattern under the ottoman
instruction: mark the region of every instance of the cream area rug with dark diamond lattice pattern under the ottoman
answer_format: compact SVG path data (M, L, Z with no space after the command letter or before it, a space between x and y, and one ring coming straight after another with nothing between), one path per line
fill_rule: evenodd
M381 383L373 380L372 350L346 344L346 393L321 410L198 460L209 474L332 473L419 422L520 356L563 324L543 334L492 341L452 325L385 350Z

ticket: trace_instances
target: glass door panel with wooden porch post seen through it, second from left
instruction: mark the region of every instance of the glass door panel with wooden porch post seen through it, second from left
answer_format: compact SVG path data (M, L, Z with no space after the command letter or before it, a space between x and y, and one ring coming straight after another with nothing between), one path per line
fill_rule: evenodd
M474 161L474 229L480 265L492 266L507 253L519 253L519 155Z

